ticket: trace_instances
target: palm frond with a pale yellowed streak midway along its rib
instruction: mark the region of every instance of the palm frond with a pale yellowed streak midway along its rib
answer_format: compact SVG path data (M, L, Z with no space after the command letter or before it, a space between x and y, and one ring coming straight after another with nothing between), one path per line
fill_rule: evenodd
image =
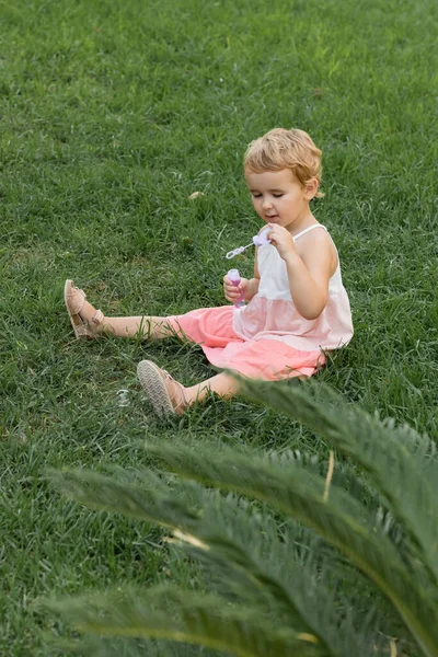
M137 485L116 482L114 477L90 471L65 470L53 473L50 477L58 488L89 507L123 512L153 521L174 531L177 530L178 537L197 548L198 557L204 556L210 564L216 563L217 566L226 560L223 569L234 569L234 577L240 575L240 591L252 591L251 600L245 596L246 603L252 607L257 603L262 604L263 598L266 609L274 604L278 613L283 609L291 626L301 633L318 635L319 642L323 643L316 627L307 620L306 609L297 606L293 596L285 590L279 579L272 577L266 569L257 567L247 551L226 535L218 533L219 528L222 527L223 531L227 520L230 520L229 504L221 504L223 500L220 496L215 495L214 498L210 492L204 492L206 508L203 514L193 515L187 506L184 506L182 499L175 505L176 496L181 495L176 486L166 489L160 486L160 489L155 491L153 487L155 477L152 475L151 482L148 482L147 475L147 472L141 475L146 486L143 495L142 489ZM162 491L165 491L166 494L163 495ZM193 489L191 492L193 493ZM199 502L200 497L198 496ZM238 512L240 529L243 526L249 527L249 523L245 522L245 515ZM223 522L224 519L226 522ZM263 530L267 529L268 525L265 522ZM260 527L258 531L261 531ZM254 543L254 539L255 535L252 535L249 540L250 544ZM203 554L206 551L207 555Z

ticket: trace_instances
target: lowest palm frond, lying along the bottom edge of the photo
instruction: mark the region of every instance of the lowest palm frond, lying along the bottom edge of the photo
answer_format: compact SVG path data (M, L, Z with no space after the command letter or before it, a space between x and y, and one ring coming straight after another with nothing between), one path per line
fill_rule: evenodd
M84 632L170 639L228 650L237 657L330 657L311 634L276 629L214 596L155 586L46 602Z

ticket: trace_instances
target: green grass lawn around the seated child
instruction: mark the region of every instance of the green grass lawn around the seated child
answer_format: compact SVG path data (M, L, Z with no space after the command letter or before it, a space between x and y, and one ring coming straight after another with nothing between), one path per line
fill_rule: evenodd
M168 577L155 530L67 503L45 468L145 463L147 434L325 453L244 399L157 420L137 361L194 383L212 371L200 350L77 343L62 307L66 277L108 314L220 304L223 254L258 227L241 160L266 130L303 128L324 153L314 212L356 335L321 379L437 435L438 5L7 0L1 13L0 654L27 657L49 654L36 598ZM238 266L250 274L251 254Z

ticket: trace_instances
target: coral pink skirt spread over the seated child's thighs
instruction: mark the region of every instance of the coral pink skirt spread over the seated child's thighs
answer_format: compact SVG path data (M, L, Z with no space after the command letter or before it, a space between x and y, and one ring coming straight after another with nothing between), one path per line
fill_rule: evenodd
M166 319L180 337L200 345L211 365L251 379L311 377L324 365L321 350L299 351L281 339L242 339L232 327L233 312L233 306L220 306Z

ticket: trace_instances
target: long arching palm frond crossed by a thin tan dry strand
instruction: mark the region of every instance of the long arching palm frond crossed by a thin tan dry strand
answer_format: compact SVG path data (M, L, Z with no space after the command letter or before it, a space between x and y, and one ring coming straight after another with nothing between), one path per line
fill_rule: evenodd
M261 499L314 529L388 596L425 654L438 656L438 626L434 621L438 606L411 576L389 538L369 531L360 520L364 510L346 493L332 487L325 500L322 477L318 480L300 469L287 475L284 470L269 469L261 459L250 454L244 458L231 449L211 454L208 448L193 449L175 442L149 445L148 449L182 476Z

